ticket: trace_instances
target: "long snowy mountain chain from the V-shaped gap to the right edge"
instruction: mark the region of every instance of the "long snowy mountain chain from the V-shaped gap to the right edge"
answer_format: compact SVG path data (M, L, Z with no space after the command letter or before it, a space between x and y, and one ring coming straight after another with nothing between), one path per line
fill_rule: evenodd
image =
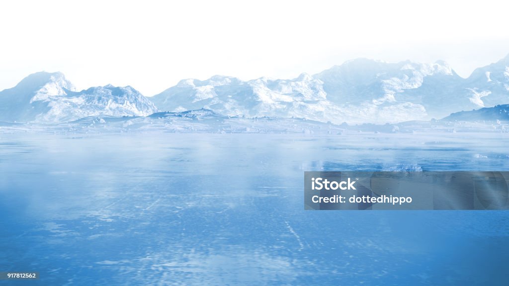
M151 100L160 110L208 108L228 116L378 124L427 120L509 102L508 58L476 70L467 79L442 61L419 64L367 59L289 80L186 79Z

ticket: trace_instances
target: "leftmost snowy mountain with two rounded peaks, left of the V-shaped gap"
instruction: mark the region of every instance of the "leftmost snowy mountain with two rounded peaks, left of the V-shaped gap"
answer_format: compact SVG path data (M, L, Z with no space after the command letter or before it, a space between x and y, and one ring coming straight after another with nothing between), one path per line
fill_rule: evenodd
M0 121L66 122L88 116L147 116L154 104L131 87L77 92L62 73L38 72L0 92Z

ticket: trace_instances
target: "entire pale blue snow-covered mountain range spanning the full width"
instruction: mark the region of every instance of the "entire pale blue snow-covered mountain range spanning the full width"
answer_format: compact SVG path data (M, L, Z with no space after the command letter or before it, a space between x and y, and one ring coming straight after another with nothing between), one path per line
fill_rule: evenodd
M509 103L509 55L462 78L442 61L348 61L315 75L243 81L184 79L147 98L131 87L76 91L62 73L39 72L0 92L0 121L56 123L89 116L149 116L210 109L224 116L349 124L440 119Z

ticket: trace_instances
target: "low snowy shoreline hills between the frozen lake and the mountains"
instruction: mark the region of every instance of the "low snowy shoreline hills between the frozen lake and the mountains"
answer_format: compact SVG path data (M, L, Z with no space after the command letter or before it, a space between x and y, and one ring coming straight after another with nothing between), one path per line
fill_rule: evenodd
M507 107L509 106L505 108ZM500 108L501 110L504 109L503 107ZM492 118L490 114L487 116L488 117L480 118ZM507 118L507 111L505 112L505 117ZM459 118L458 120L408 121L383 125L371 123L359 125L343 123L338 125L301 118L228 117L219 115L212 110L199 109L182 112L156 112L147 117L90 116L60 124L0 122L0 135L12 132L47 132L50 134L80 134L80 136L85 134L118 134L130 132L216 134L270 133L302 134L303 136L327 135L333 136L337 138L337 140L344 141L348 140L350 135L359 138L358 134L364 134L363 136L365 136L366 139L383 138L383 141L386 142L387 138L385 136L388 133L436 134L441 137L445 133L467 132L471 134L472 132L509 132L509 120L470 119L470 116L467 115L466 120ZM71 137L80 138L80 136Z

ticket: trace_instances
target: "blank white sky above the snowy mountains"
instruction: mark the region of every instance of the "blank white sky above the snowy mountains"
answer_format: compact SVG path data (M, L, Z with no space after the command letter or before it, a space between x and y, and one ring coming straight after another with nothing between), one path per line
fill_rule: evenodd
M0 90L61 71L146 96L215 74L294 78L364 57L445 60L467 77L509 53L507 1L9 1Z

